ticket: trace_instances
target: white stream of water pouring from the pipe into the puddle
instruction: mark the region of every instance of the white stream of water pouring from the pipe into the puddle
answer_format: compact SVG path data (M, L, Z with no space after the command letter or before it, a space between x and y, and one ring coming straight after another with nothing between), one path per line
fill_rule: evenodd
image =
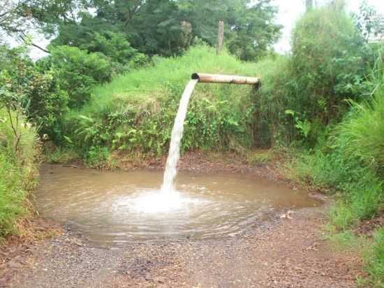
M163 186L161 187L162 193L174 193L175 192L175 178L177 175L177 162L180 157L180 142L183 138L184 120L186 117L186 109L188 108L189 98L193 89L195 88L198 80L190 80L186 85L182 99L179 103L179 109L175 118L175 124L173 124L172 134L170 139L170 150L168 152L167 164L165 165Z

